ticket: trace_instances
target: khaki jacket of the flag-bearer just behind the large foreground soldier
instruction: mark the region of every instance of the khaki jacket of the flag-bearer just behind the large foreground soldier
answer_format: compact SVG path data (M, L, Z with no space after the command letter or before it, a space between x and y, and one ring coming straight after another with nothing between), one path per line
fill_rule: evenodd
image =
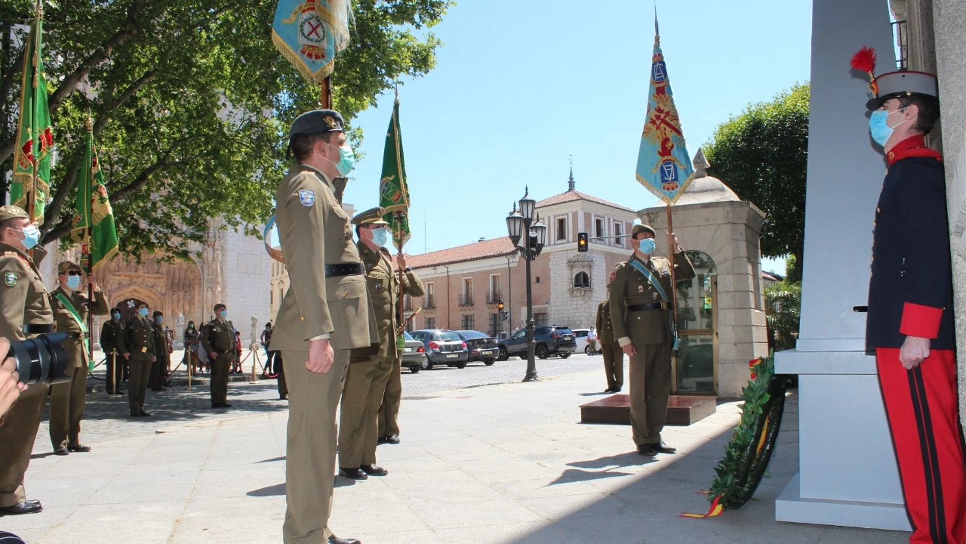
M379 343L353 350L350 361L360 362L368 358L397 358L396 329L399 329L399 302L401 300L399 272L393 272L389 250L379 250L365 243L356 243L362 264L365 266L365 279L372 301L376 326L379 328ZM403 274L402 292L415 297L423 295L423 284L411 272Z

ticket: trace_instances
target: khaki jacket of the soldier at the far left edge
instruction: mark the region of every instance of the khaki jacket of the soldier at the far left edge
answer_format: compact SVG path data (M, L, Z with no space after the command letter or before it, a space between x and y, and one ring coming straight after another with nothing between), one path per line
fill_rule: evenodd
M47 290L37 264L46 256L43 247L34 248L37 261L6 243L0 243L0 336L11 342L25 340L24 324L52 325Z

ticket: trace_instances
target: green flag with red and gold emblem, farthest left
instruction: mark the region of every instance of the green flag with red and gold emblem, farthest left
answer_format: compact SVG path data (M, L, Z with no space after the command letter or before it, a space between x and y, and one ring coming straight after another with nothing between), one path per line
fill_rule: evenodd
M43 75L43 8L38 2L37 16L24 47L23 79L20 86L20 119L16 129L14 181L10 201L29 213L27 194L34 193L33 216L43 223L50 187L50 152L54 144L50 111L47 109L47 80Z

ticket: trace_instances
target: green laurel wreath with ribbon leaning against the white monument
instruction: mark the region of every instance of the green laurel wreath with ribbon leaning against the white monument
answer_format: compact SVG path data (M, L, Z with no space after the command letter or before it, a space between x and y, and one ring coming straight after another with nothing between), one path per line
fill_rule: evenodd
M749 363L752 380L742 387L745 404L741 422L725 446L725 458L718 462L718 477L711 484L708 501L725 510L750 501L768 461L775 451L784 411L785 391L791 380L775 374L775 358L758 358Z

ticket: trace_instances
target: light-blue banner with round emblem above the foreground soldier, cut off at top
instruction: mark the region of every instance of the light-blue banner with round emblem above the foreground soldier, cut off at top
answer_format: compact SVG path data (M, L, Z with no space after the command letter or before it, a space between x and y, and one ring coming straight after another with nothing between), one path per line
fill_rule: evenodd
M350 13L350 0L279 0L271 42L306 79L320 83L349 44Z

